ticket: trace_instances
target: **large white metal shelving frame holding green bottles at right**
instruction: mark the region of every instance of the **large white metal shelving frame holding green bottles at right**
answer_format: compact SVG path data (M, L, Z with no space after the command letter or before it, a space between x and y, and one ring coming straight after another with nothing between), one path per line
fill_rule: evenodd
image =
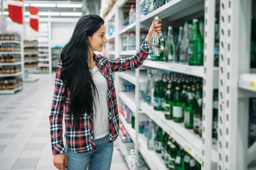
M252 0L171 0L147 15L140 15L140 4L143 0L136 0L136 22L123 26L123 6L127 2L128 0L117 0L105 17L107 29L114 20L115 51L108 54L114 55L115 58L131 57L136 53L122 51L122 35L126 31L136 31L136 49L139 49L140 31L148 30L155 16L162 19L163 27L178 27L184 24L184 21L191 21L194 18L204 21L203 66L151 60L145 60L143 63L145 69L161 69L203 78L202 138L184 128L183 123L165 119L162 111L155 111L152 106L141 100L140 91L146 86L141 69L136 69L135 72L115 73L118 103L121 100L136 115L136 130L131 130L130 124L125 122L122 115L119 116L129 134L133 136L136 153L142 153L151 169L165 169L161 167L161 161L157 160L159 155L147 150L146 143L143 143L146 139L143 140L137 130L141 114L145 114L192 155L202 165L202 170L246 170L249 168L248 165L250 170L253 169L253 164L250 163L256 158L256 143L250 148L247 146L248 98L256 96L255 69L250 69L251 12L256 9ZM219 67L213 66L215 17L220 25ZM123 79L135 84L135 91L122 92ZM213 89L218 89L219 96L216 144L212 143ZM137 158L138 154L135 160Z

